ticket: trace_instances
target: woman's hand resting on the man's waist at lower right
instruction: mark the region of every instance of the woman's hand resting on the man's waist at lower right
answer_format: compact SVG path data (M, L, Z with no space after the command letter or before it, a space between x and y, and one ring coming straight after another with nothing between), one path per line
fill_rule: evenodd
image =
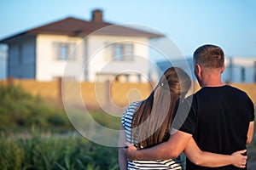
M242 154L246 153L247 150L239 150L234 152L231 156L233 159L232 165L235 167L244 168L247 164L247 156L243 156Z

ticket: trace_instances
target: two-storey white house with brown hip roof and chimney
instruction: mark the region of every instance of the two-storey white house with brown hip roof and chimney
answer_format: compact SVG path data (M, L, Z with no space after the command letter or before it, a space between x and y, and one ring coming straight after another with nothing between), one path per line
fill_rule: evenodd
M148 41L163 35L103 20L102 10L91 20L68 17L0 40L9 47L8 77L51 81L145 82Z

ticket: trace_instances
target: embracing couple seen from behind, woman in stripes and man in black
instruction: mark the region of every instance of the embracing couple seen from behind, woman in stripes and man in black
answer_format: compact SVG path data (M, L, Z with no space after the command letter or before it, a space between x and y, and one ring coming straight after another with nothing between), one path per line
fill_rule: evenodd
M148 99L134 102L122 116L120 169L246 169L246 144L253 138L254 107L246 93L221 82L224 52L204 45L193 55L201 90L184 99L191 82L169 68ZM175 131L173 133L173 131Z

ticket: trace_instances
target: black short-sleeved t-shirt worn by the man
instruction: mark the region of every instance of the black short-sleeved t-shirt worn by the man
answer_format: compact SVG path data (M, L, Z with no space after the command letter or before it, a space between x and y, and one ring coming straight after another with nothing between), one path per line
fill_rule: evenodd
M254 120L254 106L243 91L228 85L201 88L186 99L182 107L189 114L179 130L193 134L201 150L230 155L237 150L246 149L249 122ZM212 169L196 166L189 159L186 167L196 170Z

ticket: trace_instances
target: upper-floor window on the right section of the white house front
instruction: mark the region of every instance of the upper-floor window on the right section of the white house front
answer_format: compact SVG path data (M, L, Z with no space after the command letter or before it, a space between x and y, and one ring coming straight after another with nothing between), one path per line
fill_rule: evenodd
M118 61L133 60L133 44L132 43L113 43L108 46L106 59Z

